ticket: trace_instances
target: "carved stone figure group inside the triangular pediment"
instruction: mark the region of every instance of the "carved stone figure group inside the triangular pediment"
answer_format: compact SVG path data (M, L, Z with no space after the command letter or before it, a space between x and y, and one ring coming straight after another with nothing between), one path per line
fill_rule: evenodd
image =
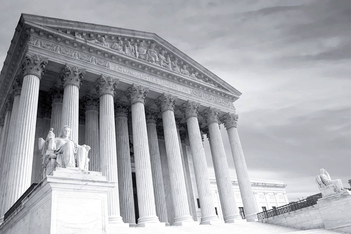
M78 38L81 38L80 34L76 34L75 36ZM174 61L171 61L169 55L165 56L164 50L161 51L161 53L158 53L157 51L155 51L154 44L151 44L150 48L146 49L146 47L144 47L143 42L139 42L139 46L137 45L137 43L135 43L134 46L132 46L130 41L127 41L127 44L123 45L122 40L119 40L118 42L114 42L113 45L110 46L110 44L108 44L108 42L105 41L104 37L101 37L101 41L94 39L94 40L91 40L90 42L114 49L119 53L127 54L129 56L142 59L147 62L156 63L159 66L167 68L171 71L179 72L183 75L191 76L193 78L198 79L196 77L199 74L198 72L194 72L190 74L189 71L186 69L186 65L183 65L183 67L179 68L177 64L178 63L177 58Z

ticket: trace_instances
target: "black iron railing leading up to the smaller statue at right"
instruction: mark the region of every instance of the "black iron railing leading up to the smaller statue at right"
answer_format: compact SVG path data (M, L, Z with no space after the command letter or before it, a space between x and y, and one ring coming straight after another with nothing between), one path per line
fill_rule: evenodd
M284 206L279 206L277 208L274 209L270 209L270 210L266 210L264 212L258 213L257 217L258 220L261 219L268 219L280 214L285 214L294 210L298 210L298 209L302 209L305 207L309 207L309 206L313 206L317 204L319 197L310 197L304 200L300 200L300 201L296 201L296 202L292 202L289 203L287 205Z

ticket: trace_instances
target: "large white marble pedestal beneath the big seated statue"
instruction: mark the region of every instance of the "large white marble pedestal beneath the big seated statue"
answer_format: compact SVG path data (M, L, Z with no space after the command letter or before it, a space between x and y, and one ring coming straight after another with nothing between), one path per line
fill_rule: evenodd
M55 168L2 223L0 233L106 234L107 193L115 186L101 172Z

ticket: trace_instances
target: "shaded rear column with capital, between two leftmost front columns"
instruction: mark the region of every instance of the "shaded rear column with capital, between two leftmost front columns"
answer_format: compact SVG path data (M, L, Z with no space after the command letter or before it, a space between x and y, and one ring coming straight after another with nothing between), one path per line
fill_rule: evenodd
M49 98L51 100L52 107L50 127L54 129L54 134L56 137L58 137L62 128L62 100L64 98L64 90L62 87L52 87L49 91ZM47 135L47 133L44 134Z

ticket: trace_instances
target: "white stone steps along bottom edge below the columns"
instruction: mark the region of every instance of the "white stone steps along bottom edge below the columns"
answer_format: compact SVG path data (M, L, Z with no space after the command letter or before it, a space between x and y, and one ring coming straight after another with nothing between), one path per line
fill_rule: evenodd
M109 234L337 234L326 229L301 230L260 222L225 223L218 225L172 226L172 227L133 227L109 230ZM350 233L348 233L350 234Z

